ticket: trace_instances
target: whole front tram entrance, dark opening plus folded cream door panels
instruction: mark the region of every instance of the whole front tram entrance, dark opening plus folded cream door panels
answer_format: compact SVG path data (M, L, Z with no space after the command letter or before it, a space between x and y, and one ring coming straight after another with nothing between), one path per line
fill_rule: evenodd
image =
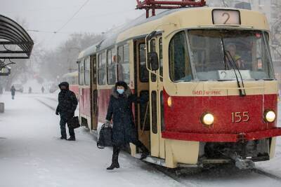
M164 139L162 139L162 36L157 35L145 41L134 42L135 91L138 97L147 97L149 102L138 103L136 121L138 139L150 149L153 157L165 158ZM159 58L159 69L150 74L147 69L147 53L155 52ZM159 74L160 76L157 76Z

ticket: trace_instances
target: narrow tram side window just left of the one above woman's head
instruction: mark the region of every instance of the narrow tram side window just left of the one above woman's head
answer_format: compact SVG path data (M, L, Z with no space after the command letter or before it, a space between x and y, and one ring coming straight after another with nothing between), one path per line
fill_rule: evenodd
M113 57L115 56L115 48L107 50L107 83L114 85L116 82L116 62Z

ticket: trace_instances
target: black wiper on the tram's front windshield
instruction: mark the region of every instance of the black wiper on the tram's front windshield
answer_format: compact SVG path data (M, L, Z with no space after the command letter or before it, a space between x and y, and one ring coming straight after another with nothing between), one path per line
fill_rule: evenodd
M246 95L246 92L245 92L244 89L241 89L241 88L244 88L244 82L243 82L243 78L242 78L240 69L237 67L237 64L235 63L235 60L234 60L233 56L230 54L230 52L228 50L226 50L226 48L224 46L223 37L221 37L221 44L223 46L223 60L224 60L225 64L226 64L226 61L227 61L228 64L230 65L230 67L233 69L234 74L235 74L235 78L236 78L236 81L237 81L237 86L239 88L239 95L240 95L240 97L243 97L243 96ZM238 73L240 75L242 86L240 85L240 81L238 79L236 70L238 71Z

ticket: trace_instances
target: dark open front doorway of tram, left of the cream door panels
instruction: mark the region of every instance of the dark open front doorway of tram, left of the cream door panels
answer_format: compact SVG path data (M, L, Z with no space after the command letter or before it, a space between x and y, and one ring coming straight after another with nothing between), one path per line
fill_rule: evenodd
M149 98L149 74L146 69L146 48L145 40L134 42L135 57L135 91L138 97ZM145 147L150 149L150 107L149 102L138 103L136 107L136 121L138 124L138 139L143 142Z

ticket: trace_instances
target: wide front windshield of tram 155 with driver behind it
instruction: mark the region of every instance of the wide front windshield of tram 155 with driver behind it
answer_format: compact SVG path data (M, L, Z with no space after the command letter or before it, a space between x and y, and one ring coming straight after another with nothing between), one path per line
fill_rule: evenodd
M270 80L271 63L268 34L261 31L191 29L169 46L172 81Z

